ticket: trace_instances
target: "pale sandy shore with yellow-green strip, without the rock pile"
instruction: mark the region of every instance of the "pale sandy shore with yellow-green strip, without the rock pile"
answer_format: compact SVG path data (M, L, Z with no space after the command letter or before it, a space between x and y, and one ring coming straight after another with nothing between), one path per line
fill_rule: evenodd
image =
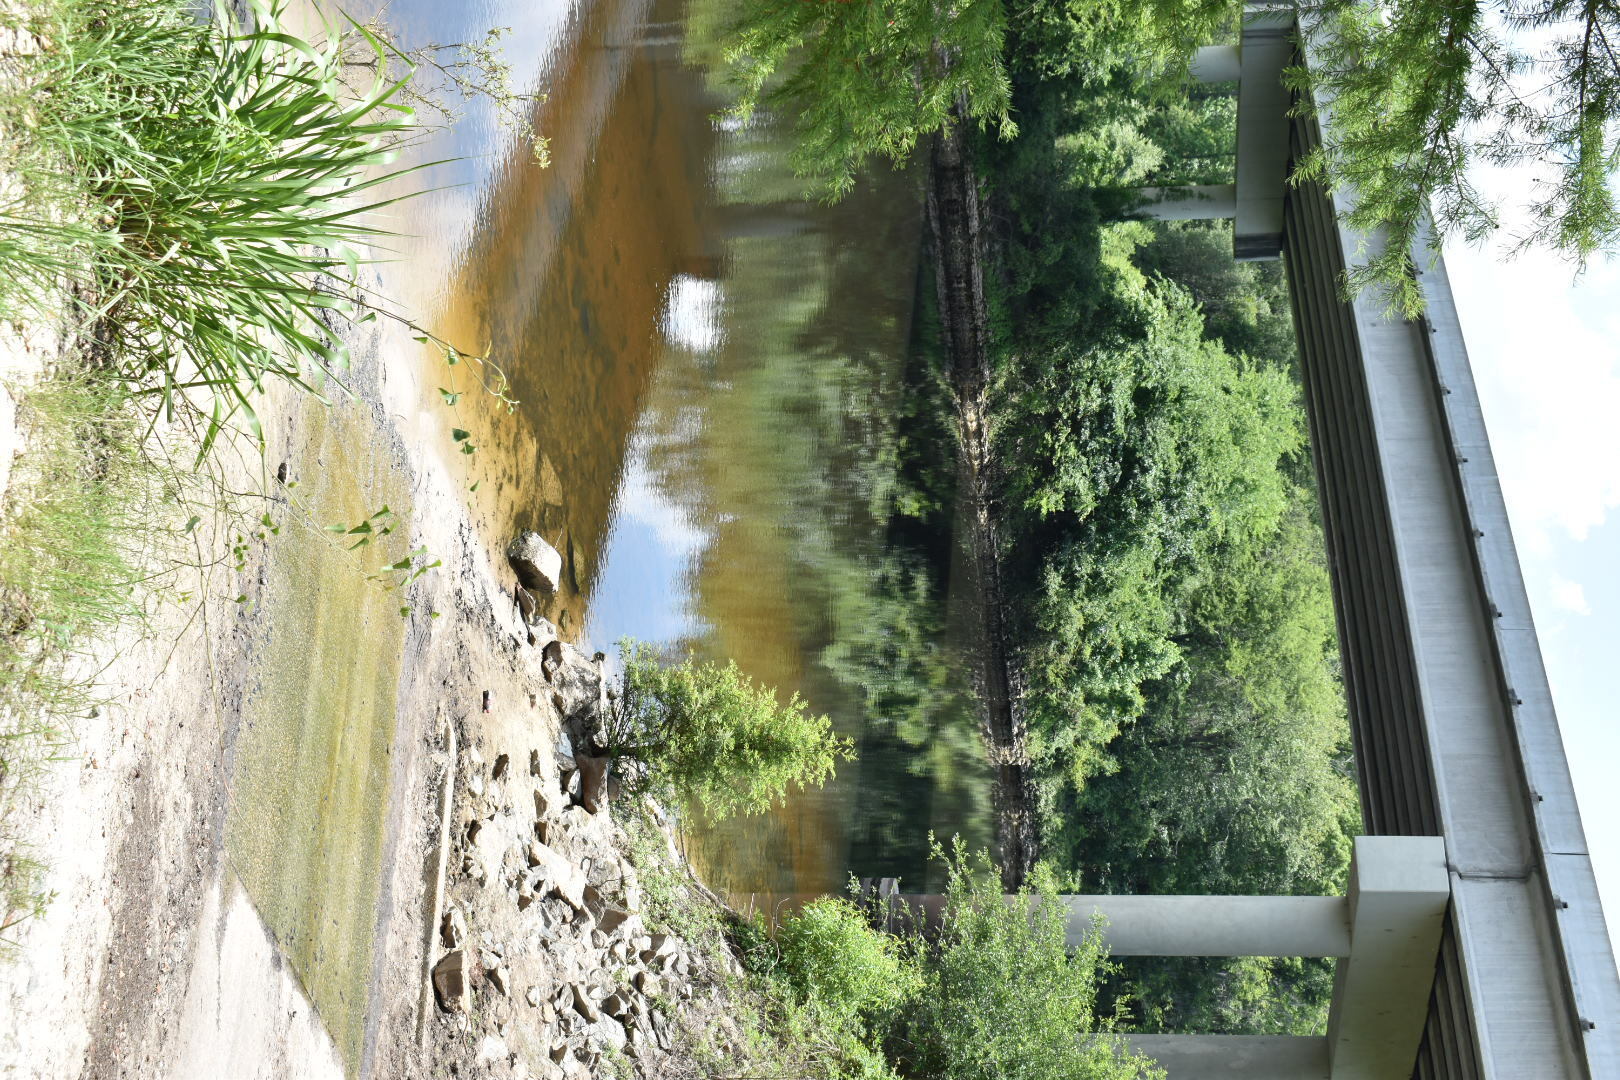
M87 659L105 664L105 704L78 721L75 753L26 808L55 899L16 928L18 959L0 967L0 1075L416 1072L415 1040L399 1033L418 1027L446 733L484 721L484 691L491 721L554 738L557 717L549 699L530 704L538 661L510 572L446 468L433 361L381 324L352 345L353 400L326 410L275 392L262 461L228 455L225 479L264 492L245 502L280 534L249 536L240 568L183 573L144 633ZM31 355L37 371L44 353ZM293 487L275 479L282 463ZM303 520L376 499L399 521L376 554ZM199 551L228 547L256 517L204 523ZM368 580L418 547L442 565L405 594ZM303 682L279 688L288 670ZM311 732L330 742L308 746ZM363 797L329 813L356 761ZM355 832L369 839L350 850Z

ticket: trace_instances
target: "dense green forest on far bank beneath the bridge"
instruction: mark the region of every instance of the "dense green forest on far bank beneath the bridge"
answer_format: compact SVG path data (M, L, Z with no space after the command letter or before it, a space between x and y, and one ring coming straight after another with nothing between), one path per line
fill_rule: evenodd
M1087 891L1335 892L1359 823L1286 288L1230 227L1108 223L1121 146L1163 151L1145 181L1221 178L1230 110L1157 94L1030 76L1024 138L982 151L1043 850ZM1150 1030L1311 1033L1330 997L1320 962L1123 968Z

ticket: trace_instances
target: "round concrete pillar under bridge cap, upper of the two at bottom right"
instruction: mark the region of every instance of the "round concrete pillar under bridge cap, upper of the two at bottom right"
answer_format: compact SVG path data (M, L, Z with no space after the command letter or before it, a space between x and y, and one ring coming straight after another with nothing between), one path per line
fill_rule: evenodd
M1108 920L1116 957L1349 955L1345 897L1066 895L1069 946Z

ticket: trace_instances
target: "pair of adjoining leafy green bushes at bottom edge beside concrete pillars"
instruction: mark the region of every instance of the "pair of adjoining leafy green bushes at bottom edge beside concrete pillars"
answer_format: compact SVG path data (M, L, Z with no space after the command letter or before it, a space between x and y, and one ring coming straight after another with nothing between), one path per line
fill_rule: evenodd
M1043 868L1008 899L983 855L946 855L943 925L873 929L849 900L755 929L755 973L786 1002L789 1030L820 1031L825 1075L932 1080L1152 1080L1098 1015L1108 970L1098 934L1068 947L1068 908Z

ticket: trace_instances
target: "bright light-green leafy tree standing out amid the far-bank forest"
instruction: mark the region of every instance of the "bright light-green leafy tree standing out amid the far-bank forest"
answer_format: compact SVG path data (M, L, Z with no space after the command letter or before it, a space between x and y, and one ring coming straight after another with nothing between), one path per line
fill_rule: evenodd
M1116 285L1090 340L1058 338L1008 405L1009 517L1038 565L1024 602L1037 753L1084 779L1179 656L1174 588L1277 528L1304 437L1285 372L1225 353L1170 283Z

